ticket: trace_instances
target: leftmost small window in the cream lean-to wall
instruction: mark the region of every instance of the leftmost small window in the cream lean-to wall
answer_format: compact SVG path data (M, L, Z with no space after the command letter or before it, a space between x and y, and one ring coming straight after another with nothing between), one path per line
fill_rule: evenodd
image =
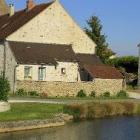
M32 79L32 67L24 67L24 79Z

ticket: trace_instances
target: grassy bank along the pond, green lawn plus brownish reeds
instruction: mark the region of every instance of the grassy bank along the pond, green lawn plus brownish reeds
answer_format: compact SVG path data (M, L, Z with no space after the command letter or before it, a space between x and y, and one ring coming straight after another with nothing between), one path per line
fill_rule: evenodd
M0 121L52 119L56 114L73 115L75 120L122 115L140 115L140 103L135 101L97 101L71 105L14 103L11 110L0 113Z

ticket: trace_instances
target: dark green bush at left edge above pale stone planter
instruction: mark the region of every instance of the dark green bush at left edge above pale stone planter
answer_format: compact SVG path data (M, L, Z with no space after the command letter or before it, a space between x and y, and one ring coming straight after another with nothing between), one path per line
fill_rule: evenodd
M9 92L9 81L3 75L0 75L0 101L7 101Z

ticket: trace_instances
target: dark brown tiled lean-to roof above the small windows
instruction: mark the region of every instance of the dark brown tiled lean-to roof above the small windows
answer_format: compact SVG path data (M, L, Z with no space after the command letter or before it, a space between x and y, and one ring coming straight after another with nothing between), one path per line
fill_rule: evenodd
M57 64L77 62L70 45L9 42L18 64Z

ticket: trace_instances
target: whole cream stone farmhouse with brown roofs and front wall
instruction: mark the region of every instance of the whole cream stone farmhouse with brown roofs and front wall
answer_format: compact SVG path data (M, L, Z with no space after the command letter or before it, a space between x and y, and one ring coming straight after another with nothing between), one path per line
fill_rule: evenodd
M48 96L75 96L124 88L114 67L102 64L96 44L70 17L58 0L25 9L0 1L0 71L11 90L24 88Z

